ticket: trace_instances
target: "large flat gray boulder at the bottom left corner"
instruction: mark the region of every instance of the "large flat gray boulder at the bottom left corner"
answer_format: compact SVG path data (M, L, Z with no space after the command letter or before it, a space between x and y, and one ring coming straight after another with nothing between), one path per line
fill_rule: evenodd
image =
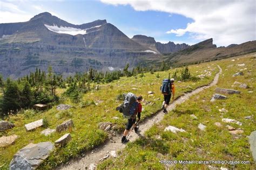
M51 142L29 144L19 150L11 160L9 169L36 169L54 148Z

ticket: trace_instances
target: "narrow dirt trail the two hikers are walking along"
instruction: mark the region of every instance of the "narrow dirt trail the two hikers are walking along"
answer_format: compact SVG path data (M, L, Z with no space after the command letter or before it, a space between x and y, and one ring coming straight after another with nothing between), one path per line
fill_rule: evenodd
M219 65L218 67L219 67L219 72L215 75L212 83L202 87L198 87L196 90L193 90L191 92L185 93L184 96L181 96L176 100L174 100L173 103L170 104L169 107L167 108L167 111L170 112L176 107L176 105L184 103L184 101L186 101L192 95L197 94L213 85L216 85L218 83L219 74L222 72ZM153 124L156 124L159 121L161 121L164 118L164 115L165 113L163 111L159 111L155 115L153 115L153 117L145 119L142 123L139 124L138 134L134 133L134 131L130 133L128 137L130 142L138 139L141 135L145 133L146 130L149 130L149 128ZM90 165L92 166L92 164L94 164L95 166L97 166L97 164L100 162L99 160L105 157L105 155L107 154L109 154L109 157L111 157L110 156L111 151L116 151L117 153L117 151L120 151L125 148L125 144L121 143L121 138L122 138L122 135L113 137L112 141L107 140L103 145L100 145L97 148L93 149L93 151L85 152L84 154L82 154L83 155L82 158L71 159L67 164L61 165L56 169L86 169L86 168L93 169L92 167L90 167Z

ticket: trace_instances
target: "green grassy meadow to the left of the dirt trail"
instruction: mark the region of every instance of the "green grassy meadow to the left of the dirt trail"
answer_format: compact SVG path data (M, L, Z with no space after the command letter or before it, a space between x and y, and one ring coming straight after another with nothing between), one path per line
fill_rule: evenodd
M181 70L182 68L179 68ZM218 68L214 63L203 63L199 65L192 65L189 67L192 75L202 74L205 70L212 70L212 75L201 79L197 82L182 82L176 83L176 97L183 94L186 91L196 89L198 86L206 85L212 81L215 73L218 72ZM140 78L139 75L136 77L121 78L120 80L113 81L109 84L101 84L100 90L91 91L84 94L81 103L86 101L95 101L97 105L88 105L86 107L80 107L80 103L71 103L67 98L60 98L60 101L65 104L70 104L74 106L68 111L57 111L56 107L51 108L48 111L21 111L19 114L7 118L8 121L15 124L15 127L11 130L0 132L0 137L2 135L11 135L16 134L19 138L15 141L14 145L0 148L0 168L8 169L10 161L14 154L24 146L28 145L30 142L38 143L43 141L54 142L59 137L65 133L71 133L72 140L62 148L55 148L51 153L50 157L43 162L41 169L52 169L53 167L68 161L70 158L79 157L79 154L83 151L92 149L93 147L102 144L107 139L107 134L99 130L98 123L110 121L111 123L116 124L116 131L123 131L126 123L126 119L122 118L122 114L115 111L117 105L122 103L122 101L116 100L118 94L123 94L127 92L133 92L137 95L142 95L146 101L152 101L154 105L145 105L143 104L144 111L142 114L142 119L149 117L155 113L160 107L163 101L163 96L160 93L161 81L168 76L168 73L173 73L174 70L165 71L165 72L156 72L154 74L144 73L145 77ZM156 75L159 73L160 78L157 78ZM137 88L138 90L132 90L132 88ZM64 89L58 89L57 94L60 95L64 92ZM147 96L148 91L153 91L155 94L153 97ZM113 117L119 117L119 119L113 119ZM62 132L62 133L53 133L48 137L41 135L40 132L45 129L45 127L38 128L32 132L25 131L25 124L31 123L38 119L46 119L49 123L49 128L56 128L57 125L63 123L63 121L72 119L75 127L72 130ZM143 141L142 141L143 142ZM157 141L156 141L157 142ZM160 147L160 146L158 146ZM164 148L163 153L166 148ZM157 150L157 149L156 149ZM144 159L150 159L152 162L157 159L154 158L154 153L156 151L146 151L140 152L139 155L142 155ZM165 151L166 152L166 151ZM127 161L126 164L130 164L130 161ZM161 167L159 165L154 165L153 163L143 166L143 168Z

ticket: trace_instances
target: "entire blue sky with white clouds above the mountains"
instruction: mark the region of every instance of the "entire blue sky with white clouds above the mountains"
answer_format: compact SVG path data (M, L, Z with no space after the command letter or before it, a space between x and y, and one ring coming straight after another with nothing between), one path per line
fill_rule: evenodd
M190 45L213 38L213 43L226 46L256 39L255 10L250 10L256 5L250 1L0 1L0 23L28 21L48 11L72 24L106 19L130 38L140 34L162 43L171 40ZM246 18L251 19L251 25L242 23ZM227 28L232 29L228 32Z

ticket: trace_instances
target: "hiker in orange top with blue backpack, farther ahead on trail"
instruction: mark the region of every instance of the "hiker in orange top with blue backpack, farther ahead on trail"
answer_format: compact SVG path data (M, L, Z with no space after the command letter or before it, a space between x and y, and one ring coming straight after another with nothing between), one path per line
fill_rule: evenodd
M160 87L161 93L164 94L164 101L162 106L162 108L164 109L163 111L164 113L167 113L166 108L170 103L171 96L172 96L172 100L174 100L175 86L173 83L174 83L174 78L170 79L170 73L169 73L169 78L164 79Z

